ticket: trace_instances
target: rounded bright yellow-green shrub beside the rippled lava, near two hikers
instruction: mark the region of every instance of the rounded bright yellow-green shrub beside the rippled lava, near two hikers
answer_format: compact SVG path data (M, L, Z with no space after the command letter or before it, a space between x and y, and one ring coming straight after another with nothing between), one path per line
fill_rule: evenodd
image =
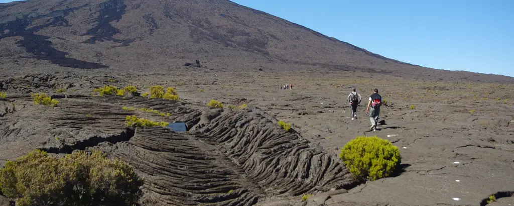
M357 136L344 145L339 158L360 180L389 177L401 163L400 150L377 136Z

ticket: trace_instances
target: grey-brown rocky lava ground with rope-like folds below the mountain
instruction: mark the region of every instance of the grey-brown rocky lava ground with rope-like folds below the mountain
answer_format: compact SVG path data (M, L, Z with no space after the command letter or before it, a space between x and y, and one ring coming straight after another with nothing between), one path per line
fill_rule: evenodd
M103 150L145 178L143 205L514 205L514 85L412 81L359 72L56 72L0 79L0 163L35 148ZM8 76L2 74L2 76ZM293 90L280 90L292 83ZM175 87L180 102L98 97L94 88ZM365 98L352 121L350 88ZM64 88L65 93L56 93ZM365 117L379 89L378 131ZM58 107L33 105L47 92ZM225 109L206 107L211 99ZM246 109L228 109L246 104ZM170 112L162 117L122 107ZM188 132L127 129L126 115L186 122ZM286 132L277 125L292 124ZM400 149L394 177L358 183L337 157L356 136ZM505 192L505 193L504 193ZM303 195L309 196L302 202ZM1 201L1 199L0 199Z

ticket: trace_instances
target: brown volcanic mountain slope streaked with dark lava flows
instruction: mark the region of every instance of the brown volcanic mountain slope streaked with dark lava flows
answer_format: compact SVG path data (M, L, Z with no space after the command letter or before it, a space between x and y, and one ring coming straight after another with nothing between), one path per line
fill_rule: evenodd
M0 4L0 63L6 71L162 71L192 59L230 71L361 70L423 79L514 82L505 76L439 71L384 58L226 0Z

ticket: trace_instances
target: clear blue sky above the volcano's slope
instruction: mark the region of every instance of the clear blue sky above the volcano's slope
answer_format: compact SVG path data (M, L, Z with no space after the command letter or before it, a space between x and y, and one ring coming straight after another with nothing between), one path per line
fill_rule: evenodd
M232 1L384 57L514 77L511 0Z

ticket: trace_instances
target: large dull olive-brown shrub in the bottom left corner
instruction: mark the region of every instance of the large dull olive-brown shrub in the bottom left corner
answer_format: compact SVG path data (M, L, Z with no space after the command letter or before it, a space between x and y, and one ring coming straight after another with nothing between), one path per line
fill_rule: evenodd
M16 205L132 205L142 195L142 180L122 160L100 151L63 158L35 150L0 170L0 189Z

